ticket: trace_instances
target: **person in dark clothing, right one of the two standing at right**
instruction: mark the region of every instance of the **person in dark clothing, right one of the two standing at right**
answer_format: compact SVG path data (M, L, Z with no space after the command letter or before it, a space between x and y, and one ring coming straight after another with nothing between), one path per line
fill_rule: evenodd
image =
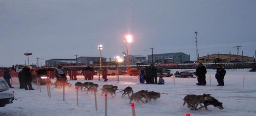
M226 70L224 69L224 67L221 64L217 65L217 71L215 74L215 78L217 79L218 84L219 84L217 86L224 86L225 74L226 74Z

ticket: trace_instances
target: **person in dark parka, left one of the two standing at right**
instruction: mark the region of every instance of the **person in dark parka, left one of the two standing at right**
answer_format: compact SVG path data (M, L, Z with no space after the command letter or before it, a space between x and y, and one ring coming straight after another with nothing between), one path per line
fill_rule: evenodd
M205 74L207 73L206 67L202 63L198 64L198 67L196 69L196 76L197 76L197 85L206 85L206 76Z

